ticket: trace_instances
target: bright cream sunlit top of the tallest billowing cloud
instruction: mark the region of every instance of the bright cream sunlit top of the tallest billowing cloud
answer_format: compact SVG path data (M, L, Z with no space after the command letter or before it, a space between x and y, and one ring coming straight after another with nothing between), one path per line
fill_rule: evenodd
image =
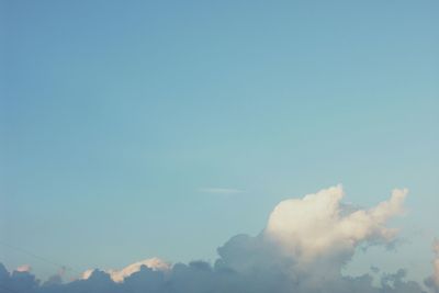
M393 239L396 230L385 224L403 212L406 194L407 190L394 190L389 201L349 214L341 204L341 185L286 200L271 213L264 235L302 264L327 257L346 260L361 243Z

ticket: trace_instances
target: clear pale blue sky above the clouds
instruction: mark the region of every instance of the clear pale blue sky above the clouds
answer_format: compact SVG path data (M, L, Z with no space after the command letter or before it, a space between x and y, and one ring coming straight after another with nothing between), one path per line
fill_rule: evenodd
M214 262L282 200L342 184L356 209L408 189L394 247L345 273L431 274L437 1L0 3L8 269Z

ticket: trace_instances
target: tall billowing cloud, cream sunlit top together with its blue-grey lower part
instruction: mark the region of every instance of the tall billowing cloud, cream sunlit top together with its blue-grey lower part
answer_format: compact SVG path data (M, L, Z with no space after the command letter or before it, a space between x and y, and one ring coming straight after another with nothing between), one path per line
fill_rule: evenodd
M344 286L360 282L341 275L344 264L359 245L394 240L396 230L386 222L404 212L406 194L394 190L390 200L368 210L342 204L341 185L282 201L260 235L237 236L221 247L217 264L244 274L272 274L272 280L282 277L286 288L299 292L322 292L329 285L334 291L328 292L344 292Z

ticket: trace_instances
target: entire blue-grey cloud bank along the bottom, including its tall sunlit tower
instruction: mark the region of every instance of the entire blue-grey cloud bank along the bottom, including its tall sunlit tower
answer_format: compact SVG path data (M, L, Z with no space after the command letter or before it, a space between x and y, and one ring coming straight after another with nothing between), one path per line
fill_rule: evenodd
M396 230L386 222L404 212L406 190L369 210L341 203L340 185L278 204L257 236L237 235L218 248L212 266L204 261L169 266L159 259L137 262L121 271L88 271L63 283L59 277L41 283L29 270L9 273L0 264L0 292L18 293L420 293L405 271L383 274L379 286L370 274L341 274L356 248L387 245ZM426 280L439 292L439 245L434 274Z

